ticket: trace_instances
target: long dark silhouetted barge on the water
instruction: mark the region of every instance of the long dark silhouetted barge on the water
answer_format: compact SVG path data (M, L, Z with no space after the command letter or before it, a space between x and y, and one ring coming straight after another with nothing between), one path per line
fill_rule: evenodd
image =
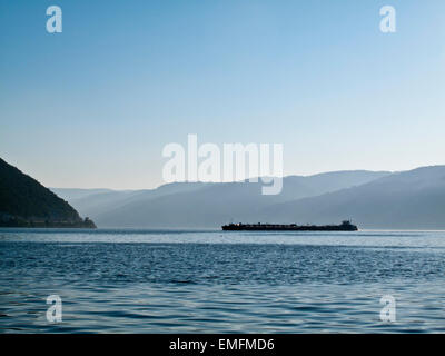
M340 225L278 225L278 224L229 224L224 225L225 231L357 231L356 225L345 220Z

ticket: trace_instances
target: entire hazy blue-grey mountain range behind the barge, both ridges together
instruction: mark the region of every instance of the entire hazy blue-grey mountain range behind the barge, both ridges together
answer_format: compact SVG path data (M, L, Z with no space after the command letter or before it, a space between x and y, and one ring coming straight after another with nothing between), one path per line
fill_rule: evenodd
M404 172L335 171L260 184L169 184L152 190L52 189L99 227L219 228L230 221L338 224L367 229L445 229L445 166Z

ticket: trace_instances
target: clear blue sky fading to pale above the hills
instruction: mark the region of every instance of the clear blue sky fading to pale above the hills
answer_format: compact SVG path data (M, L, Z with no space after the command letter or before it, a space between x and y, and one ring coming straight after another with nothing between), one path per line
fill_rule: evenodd
M0 157L47 187L157 187L190 134L285 175L442 165L444 88L443 0L0 0Z

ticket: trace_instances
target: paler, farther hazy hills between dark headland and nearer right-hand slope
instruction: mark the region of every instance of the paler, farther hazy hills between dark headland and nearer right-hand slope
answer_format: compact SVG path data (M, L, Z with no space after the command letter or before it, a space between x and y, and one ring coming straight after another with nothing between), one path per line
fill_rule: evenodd
M386 177L386 171L336 171L309 177L284 178L283 191L261 195L263 184L180 182L152 190L86 190L70 199L71 191L53 189L99 227L218 228L230 220L259 221L268 207L352 188ZM90 194L88 194L90 192ZM275 220L269 216L268 221ZM288 222L295 221L294 217Z

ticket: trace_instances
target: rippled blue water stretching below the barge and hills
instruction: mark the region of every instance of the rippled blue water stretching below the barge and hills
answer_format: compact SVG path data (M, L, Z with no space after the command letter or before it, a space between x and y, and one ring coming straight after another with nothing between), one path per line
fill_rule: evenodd
M2 229L0 330L444 333L444 271L445 233Z

